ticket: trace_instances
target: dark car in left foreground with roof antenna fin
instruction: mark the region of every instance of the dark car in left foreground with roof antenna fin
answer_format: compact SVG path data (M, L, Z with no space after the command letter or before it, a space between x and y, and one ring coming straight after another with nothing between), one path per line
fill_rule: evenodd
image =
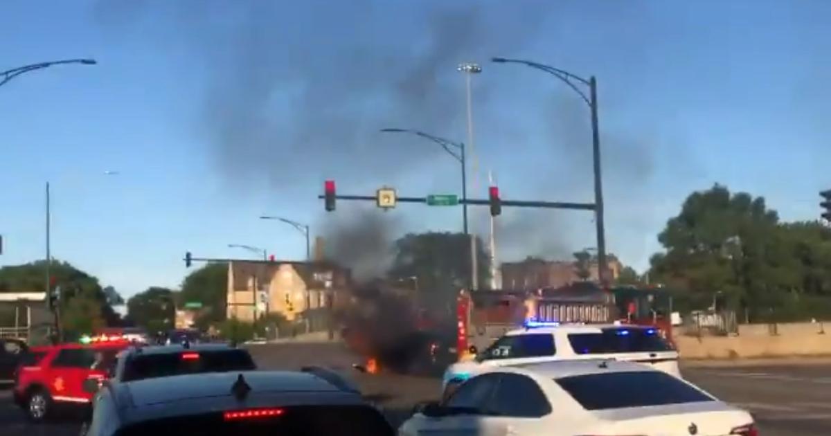
M395 431L332 373L243 371L112 385L96 400L86 434L391 436Z

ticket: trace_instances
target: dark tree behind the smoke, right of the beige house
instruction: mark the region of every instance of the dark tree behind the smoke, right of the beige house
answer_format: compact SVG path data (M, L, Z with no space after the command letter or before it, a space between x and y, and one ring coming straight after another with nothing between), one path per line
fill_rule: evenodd
M490 261L476 238L479 287L487 287ZM445 305L470 283L470 238L464 233L410 233L398 239L388 272L394 281L415 281L426 303Z

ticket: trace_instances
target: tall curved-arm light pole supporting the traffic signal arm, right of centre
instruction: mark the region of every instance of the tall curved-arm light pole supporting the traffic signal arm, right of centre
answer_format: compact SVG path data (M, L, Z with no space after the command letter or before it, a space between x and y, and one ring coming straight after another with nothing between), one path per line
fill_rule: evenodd
M591 110L592 115L592 154L594 165L594 222L597 226L597 272L600 276L600 282L605 287L608 284L609 277L607 274L608 265L606 263L606 230L603 224L603 186L600 169L600 132L597 126L597 80L594 76L584 79L583 77L573 75L572 73L553 66L543 65L533 61L523 61L520 59L506 59L504 57L494 57L491 61L497 63L515 63L530 66L540 71L545 71L548 74L557 77L563 81L573 91L586 102ZM576 82L576 83L575 83ZM578 88L578 85L588 86L588 96L585 91Z

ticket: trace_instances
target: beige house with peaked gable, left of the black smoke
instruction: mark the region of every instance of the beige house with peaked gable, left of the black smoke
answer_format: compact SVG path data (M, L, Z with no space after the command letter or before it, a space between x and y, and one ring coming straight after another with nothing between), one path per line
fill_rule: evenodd
M349 272L329 262L245 261L228 267L229 318L280 314L289 321L325 311L327 296L346 289Z

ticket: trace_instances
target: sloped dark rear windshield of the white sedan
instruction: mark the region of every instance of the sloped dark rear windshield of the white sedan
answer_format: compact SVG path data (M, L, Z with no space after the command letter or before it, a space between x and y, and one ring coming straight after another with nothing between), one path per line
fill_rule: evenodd
M660 371L575 375L556 381L587 410L715 400L701 390Z

